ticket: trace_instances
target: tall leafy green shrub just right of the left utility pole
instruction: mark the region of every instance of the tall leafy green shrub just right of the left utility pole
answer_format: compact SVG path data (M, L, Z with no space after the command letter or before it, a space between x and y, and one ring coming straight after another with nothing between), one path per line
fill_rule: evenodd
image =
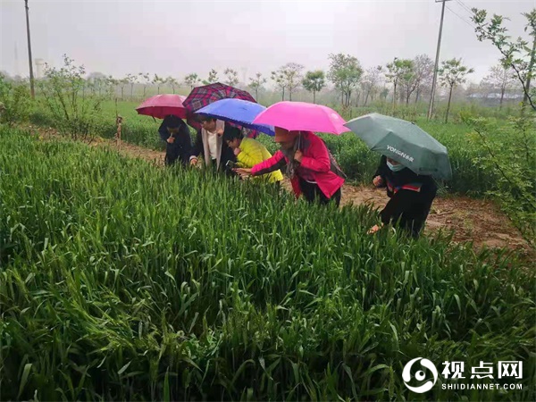
M45 79L38 81L42 104L50 113L53 127L72 138L88 139L96 134L101 120L101 106L106 95L97 95L95 86L102 93L110 94L111 88L103 80L88 83L85 69L73 60L63 57L63 67L46 66ZM86 91L91 89L93 95Z

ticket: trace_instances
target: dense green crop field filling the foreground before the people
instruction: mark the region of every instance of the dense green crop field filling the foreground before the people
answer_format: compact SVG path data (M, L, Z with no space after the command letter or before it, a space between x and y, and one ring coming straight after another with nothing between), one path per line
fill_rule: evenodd
M17 130L0 174L3 399L536 397L533 271L506 251ZM523 390L412 394L416 356L522 360Z

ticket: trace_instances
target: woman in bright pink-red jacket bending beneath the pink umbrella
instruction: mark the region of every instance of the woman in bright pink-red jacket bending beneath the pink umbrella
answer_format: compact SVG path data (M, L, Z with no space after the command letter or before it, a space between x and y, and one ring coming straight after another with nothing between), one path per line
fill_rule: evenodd
M251 169L236 169L241 176L260 176L287 166L286 172L296 197L303 193L306 200L339 206L344 173L321 138L310 131L289 131L275 128L275 142L281 147L270 159Z

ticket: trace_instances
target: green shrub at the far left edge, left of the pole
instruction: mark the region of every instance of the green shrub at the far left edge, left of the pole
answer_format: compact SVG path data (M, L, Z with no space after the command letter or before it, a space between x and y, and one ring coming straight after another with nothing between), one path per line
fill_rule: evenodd
M30 96L27 83L6 80L0 74L0 122L13 125L29 116Z

